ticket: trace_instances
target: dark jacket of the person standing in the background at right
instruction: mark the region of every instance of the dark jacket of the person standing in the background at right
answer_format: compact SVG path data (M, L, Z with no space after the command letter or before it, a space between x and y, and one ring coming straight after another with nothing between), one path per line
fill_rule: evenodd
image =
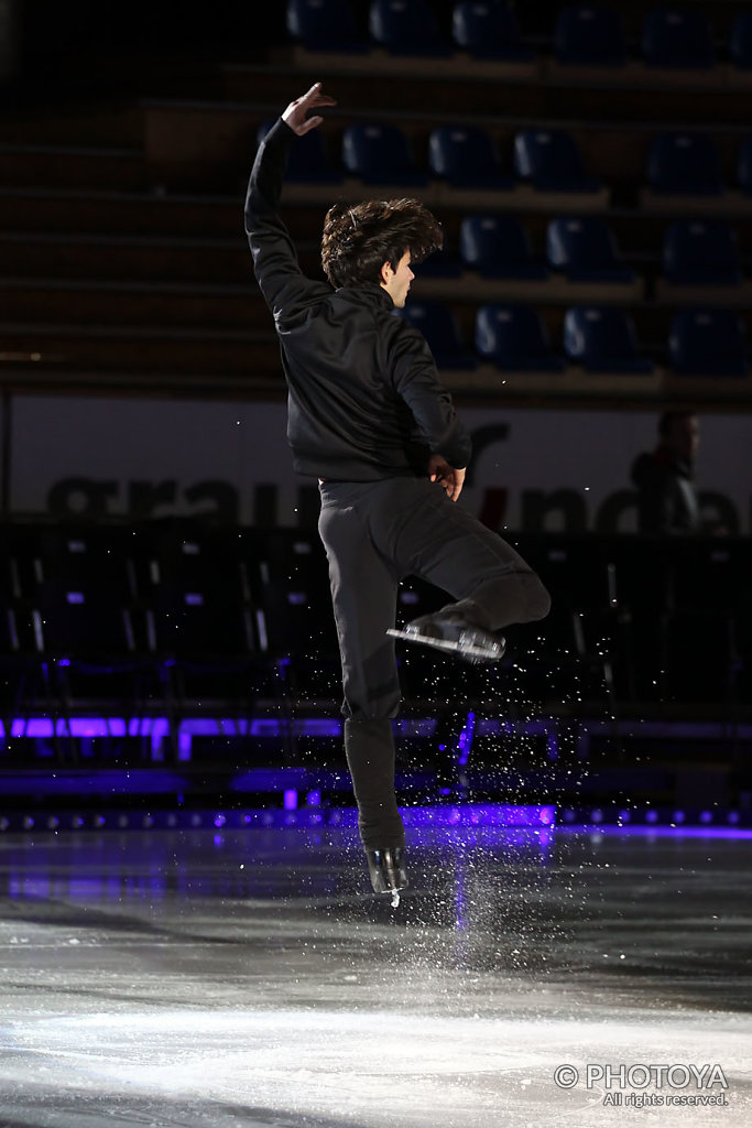
M692 467L688 461L661 446L635 459L631 479L637 486L639 532L702 531Z

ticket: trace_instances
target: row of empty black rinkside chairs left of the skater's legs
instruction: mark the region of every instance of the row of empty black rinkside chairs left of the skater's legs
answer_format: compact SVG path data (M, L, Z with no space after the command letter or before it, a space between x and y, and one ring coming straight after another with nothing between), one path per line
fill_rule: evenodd
M127 609L140 618L141 643L150 650L284 651L300 634L302 624L294 625L303 614L299 609L311 603L311 576L326 581L320 544L301 535L283 552L274 534L246 530L230 537L209 529L196 538L195 525L187 522L187 529L180 522L105 530L16 527L11 543L0 550L0 600L6 613L12 613L5 619L6 649L48 649L55 617L45 619L36 614L41 609L60 606L65 616L86 622L88 613L80 610L85 605L109 605L117 615ZM290 598L283 600L284 614L277 615L281 588ZM245 607L248 622L237 616L230 629L228 607L232 615ZM273 622L267 622L269 608ZM124 650L138 649L134 638L123 635L121 642Z

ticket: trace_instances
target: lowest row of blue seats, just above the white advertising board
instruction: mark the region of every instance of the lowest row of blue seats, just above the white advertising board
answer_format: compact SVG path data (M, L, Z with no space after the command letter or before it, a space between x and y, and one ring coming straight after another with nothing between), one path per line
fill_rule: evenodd
M481 306L475 321L477 355L467 350L451 310L442 303L413 301L400 316L421 329L440 368L472 369L478 356L515 372L560 372L567 360L591 372L649 374L655 368L639 352L631 317L619 308L568 309L563 333L567 360L555 352L540 315L528 306ZM671 320L667 359L678 376L744 377L744 326L731 310L681 310Z

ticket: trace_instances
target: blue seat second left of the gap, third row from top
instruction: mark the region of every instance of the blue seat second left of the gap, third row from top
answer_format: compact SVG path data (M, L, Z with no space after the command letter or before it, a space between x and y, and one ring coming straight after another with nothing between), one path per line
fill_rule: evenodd
M534 262L516 215L466 215L460 223L460 258L484 277L548 277L546 267Z

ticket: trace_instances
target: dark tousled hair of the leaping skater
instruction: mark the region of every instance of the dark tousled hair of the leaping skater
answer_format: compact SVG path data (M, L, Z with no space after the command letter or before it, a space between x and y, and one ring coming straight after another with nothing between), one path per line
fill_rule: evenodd
M441 224L419 200L366 200L335 204L327 212L321 236L321 265L334 287L381 282L381 267L397 270L409 250L421 263L443 243Z

